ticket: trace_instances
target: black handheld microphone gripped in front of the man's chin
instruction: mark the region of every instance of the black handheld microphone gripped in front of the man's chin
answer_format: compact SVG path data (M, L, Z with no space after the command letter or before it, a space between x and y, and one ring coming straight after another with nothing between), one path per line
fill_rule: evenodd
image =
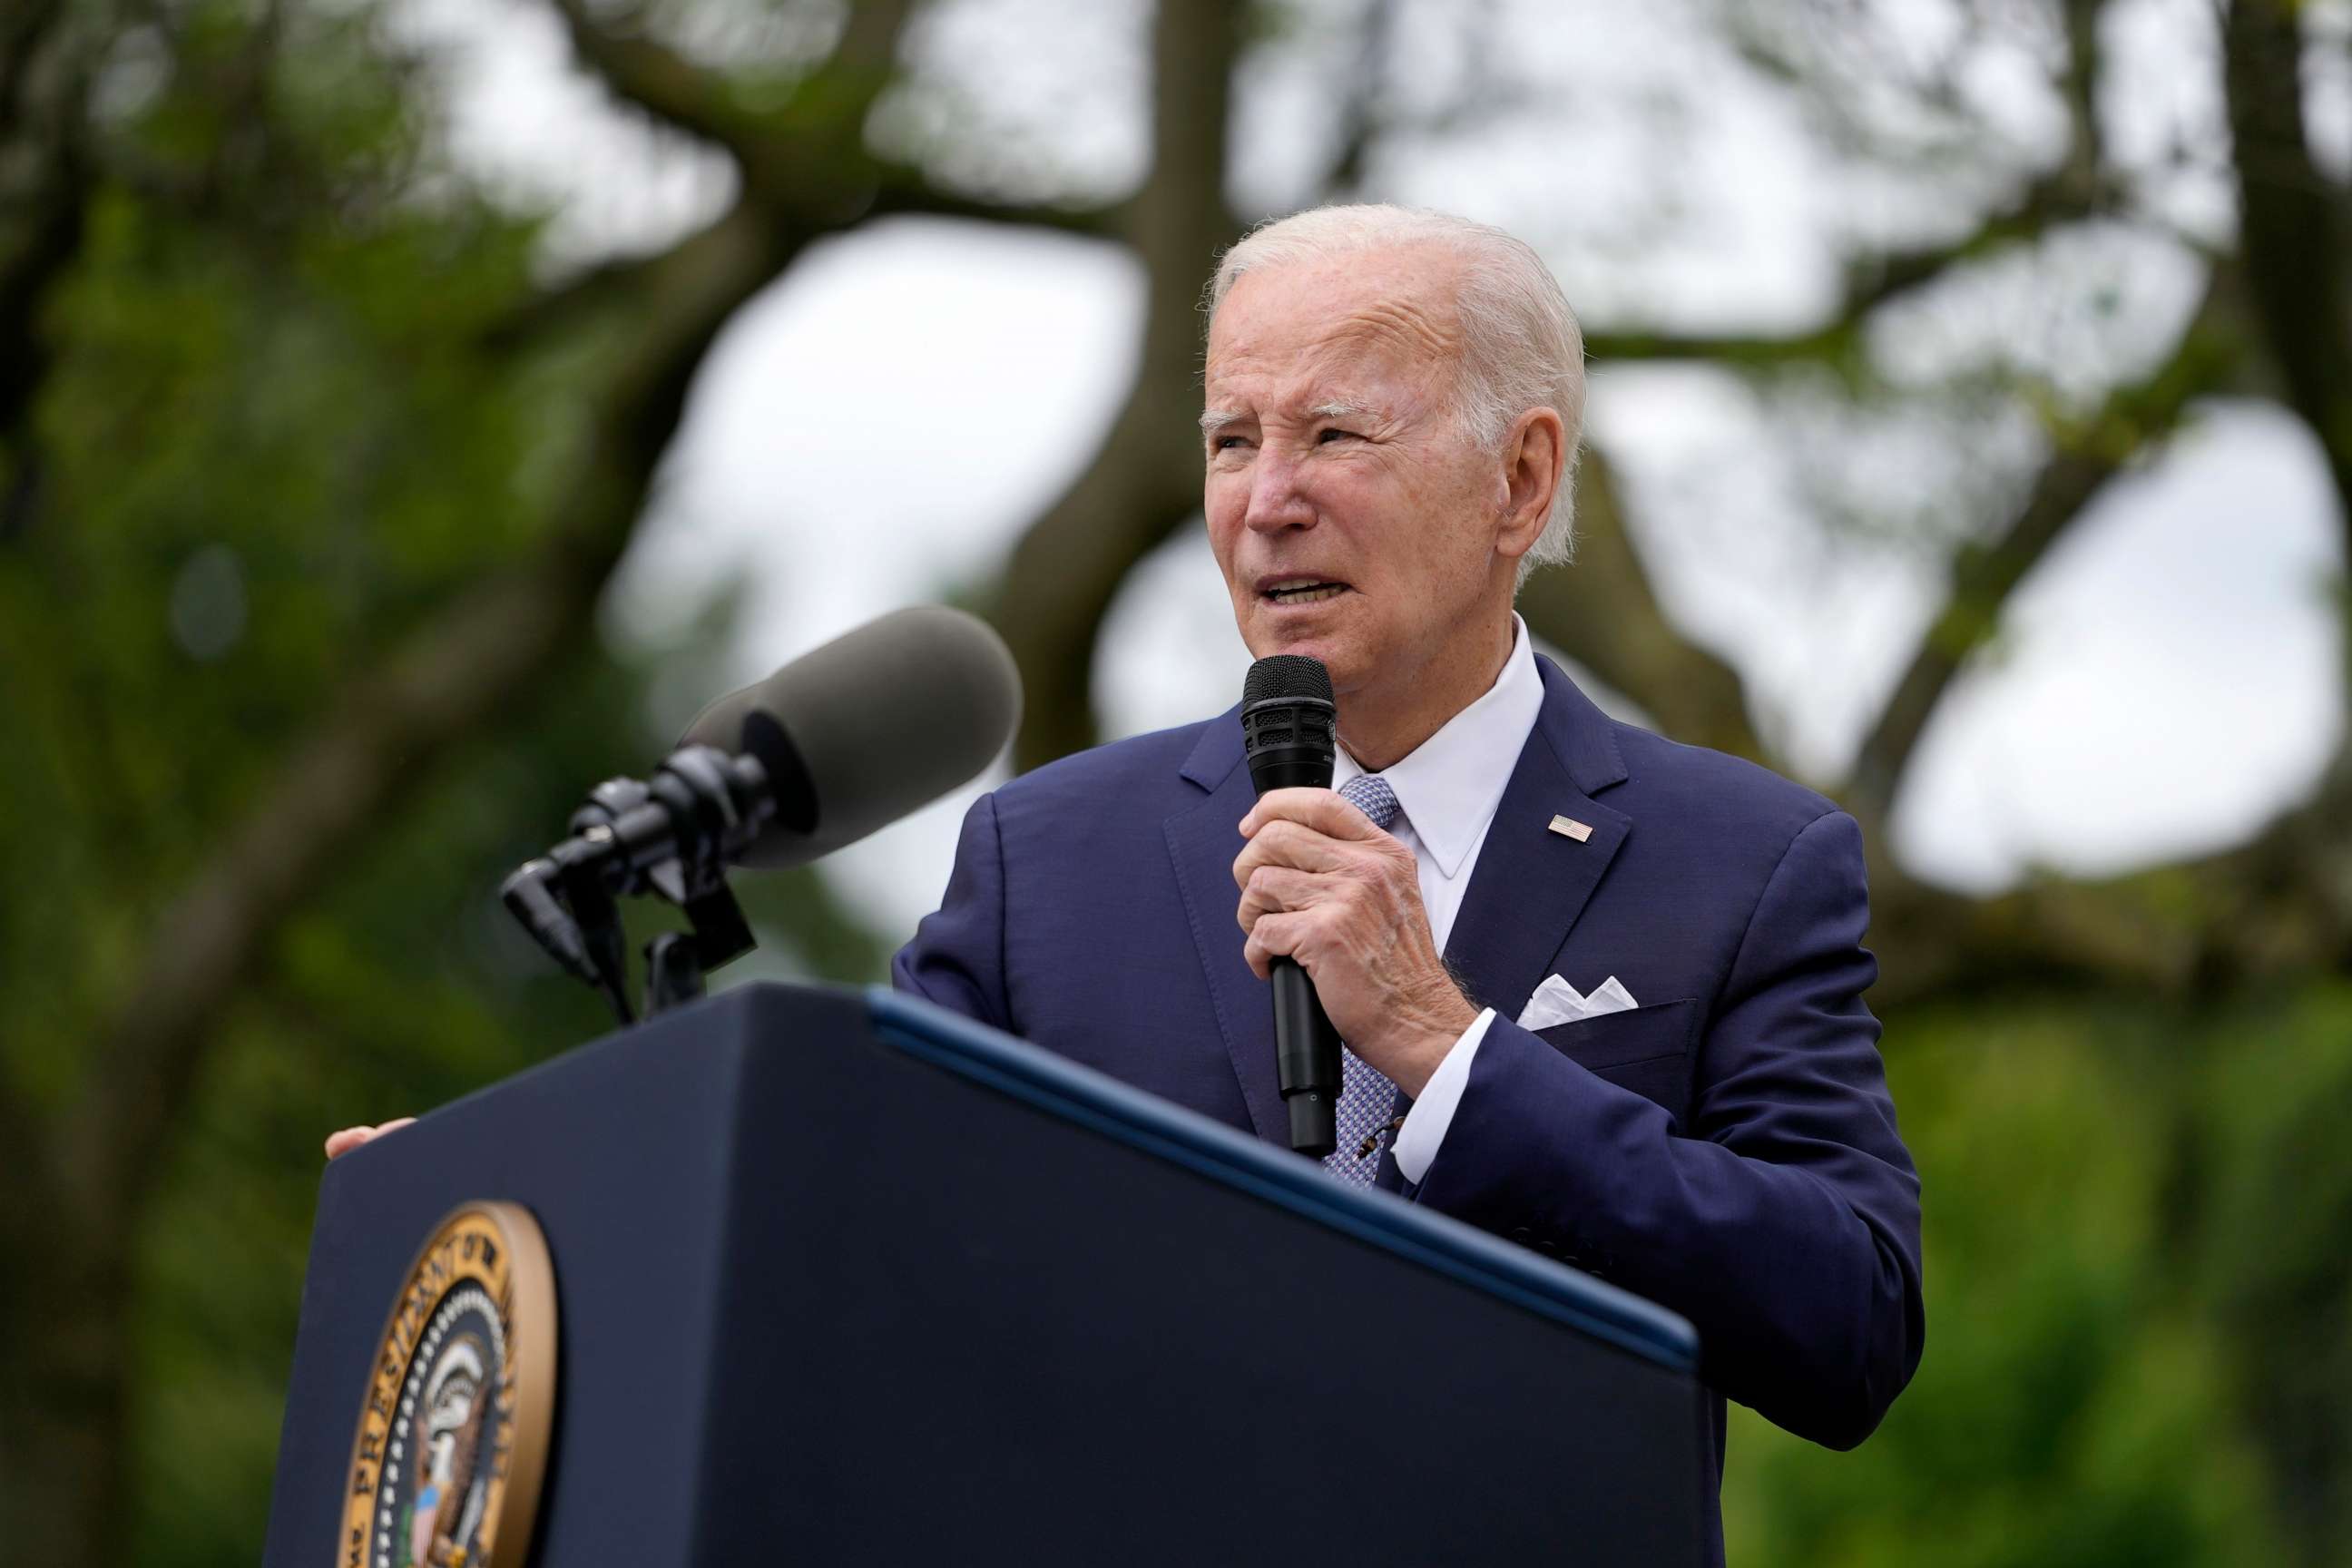
M1242 755L1249 783L1329 790L1338 755L1338 705L1319 658L1275 654L1242 682ZM1338 1147L1341 1044L1296 959L1272 961L1275 1081L1291 1112L1291 1147L1322 1159Z

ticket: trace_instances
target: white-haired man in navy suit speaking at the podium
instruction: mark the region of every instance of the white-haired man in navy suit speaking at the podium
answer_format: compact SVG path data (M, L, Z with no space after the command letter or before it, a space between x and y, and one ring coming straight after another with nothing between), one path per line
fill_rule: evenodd
M1529 646L1583 414L1557 282L1498 230L1336 207L1211 301L1209 541L1249 651L1329 665L1338 790L1256 799L1232 712L1037 769L964 818L896 983L1287 1143L1289 954L1369 1128L1336 1178L1691 1319L1717 1474L1724 1396L1858 1443L1924 1331L1860 832Z

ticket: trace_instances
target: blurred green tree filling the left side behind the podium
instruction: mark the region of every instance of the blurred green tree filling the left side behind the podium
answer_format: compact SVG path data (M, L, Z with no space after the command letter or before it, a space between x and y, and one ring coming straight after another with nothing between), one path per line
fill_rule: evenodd
M776 99L807 167L560 289L430 150L381 7L0 24L0 802L54 825L0 907L12 1554L249 1556L280 1375L249 1324L296 1295L287 1255L221 1265L299 1232L320 1088L435 1100L595 1027L466 884L560 820L541 780L642 752L590 614L713 334L875 207L898 24L863 9ZM767 907L870 971L816 889ZM240 1074L270 1093L216 1098ZM134 1467L191 1507L134 1514Z

